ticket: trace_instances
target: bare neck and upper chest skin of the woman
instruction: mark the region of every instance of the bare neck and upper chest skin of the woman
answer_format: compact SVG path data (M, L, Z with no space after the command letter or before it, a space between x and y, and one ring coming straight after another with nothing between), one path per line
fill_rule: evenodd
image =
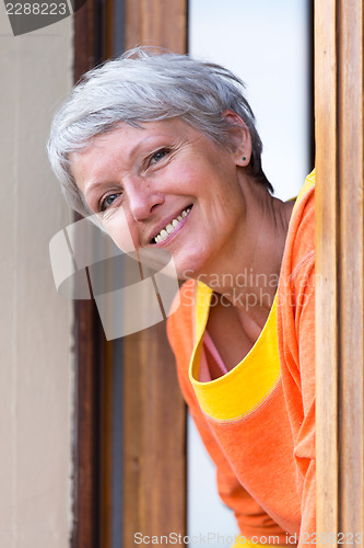
M224 255L197 276L233 305L242 323L265 326L277 293L293 202L283 203L253 181L244 189L246 218Z

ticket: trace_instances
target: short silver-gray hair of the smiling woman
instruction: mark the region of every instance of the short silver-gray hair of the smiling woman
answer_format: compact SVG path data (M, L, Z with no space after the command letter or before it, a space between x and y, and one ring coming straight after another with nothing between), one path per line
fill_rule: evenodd
M71 173L69 155L99 134L126 122L158 122L179 117L206 137L230 146L232 110L247 125L253 142L251 175L273 191L261 168L262 145L255 116L244 96L244 82L226 68L187 55L138 47L90 70L54 117L47 150L51 167L71 207L90 215Z

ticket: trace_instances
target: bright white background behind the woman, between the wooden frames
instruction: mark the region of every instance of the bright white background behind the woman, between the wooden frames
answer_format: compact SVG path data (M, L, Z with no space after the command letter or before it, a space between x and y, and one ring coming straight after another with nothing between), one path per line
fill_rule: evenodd
M307 5L307 0L189 1L189 53L226 66L247 84L263 169L282 199L297 194L312 169ZM214 465L191 420L188 432L188 534L210 532L210 548L227 547L237 532L235 518L218 496Z

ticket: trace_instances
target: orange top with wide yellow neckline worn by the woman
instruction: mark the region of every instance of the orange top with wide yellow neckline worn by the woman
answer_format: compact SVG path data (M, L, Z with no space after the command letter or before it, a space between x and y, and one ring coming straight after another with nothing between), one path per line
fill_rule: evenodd
M218 467L223 501L246 544L310 546L315 536L314 174L296 201L279 287L266 326L245 358L201 383L212 290L188 281L167 323L179 384Z

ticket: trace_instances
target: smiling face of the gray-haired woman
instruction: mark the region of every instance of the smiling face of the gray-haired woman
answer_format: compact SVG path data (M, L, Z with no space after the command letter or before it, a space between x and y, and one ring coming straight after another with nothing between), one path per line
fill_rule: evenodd
M124 251L172 253L178 275L211 272L239 235L245 202L242 152L213 144L174 118L120 124L71 155L89 207Z

